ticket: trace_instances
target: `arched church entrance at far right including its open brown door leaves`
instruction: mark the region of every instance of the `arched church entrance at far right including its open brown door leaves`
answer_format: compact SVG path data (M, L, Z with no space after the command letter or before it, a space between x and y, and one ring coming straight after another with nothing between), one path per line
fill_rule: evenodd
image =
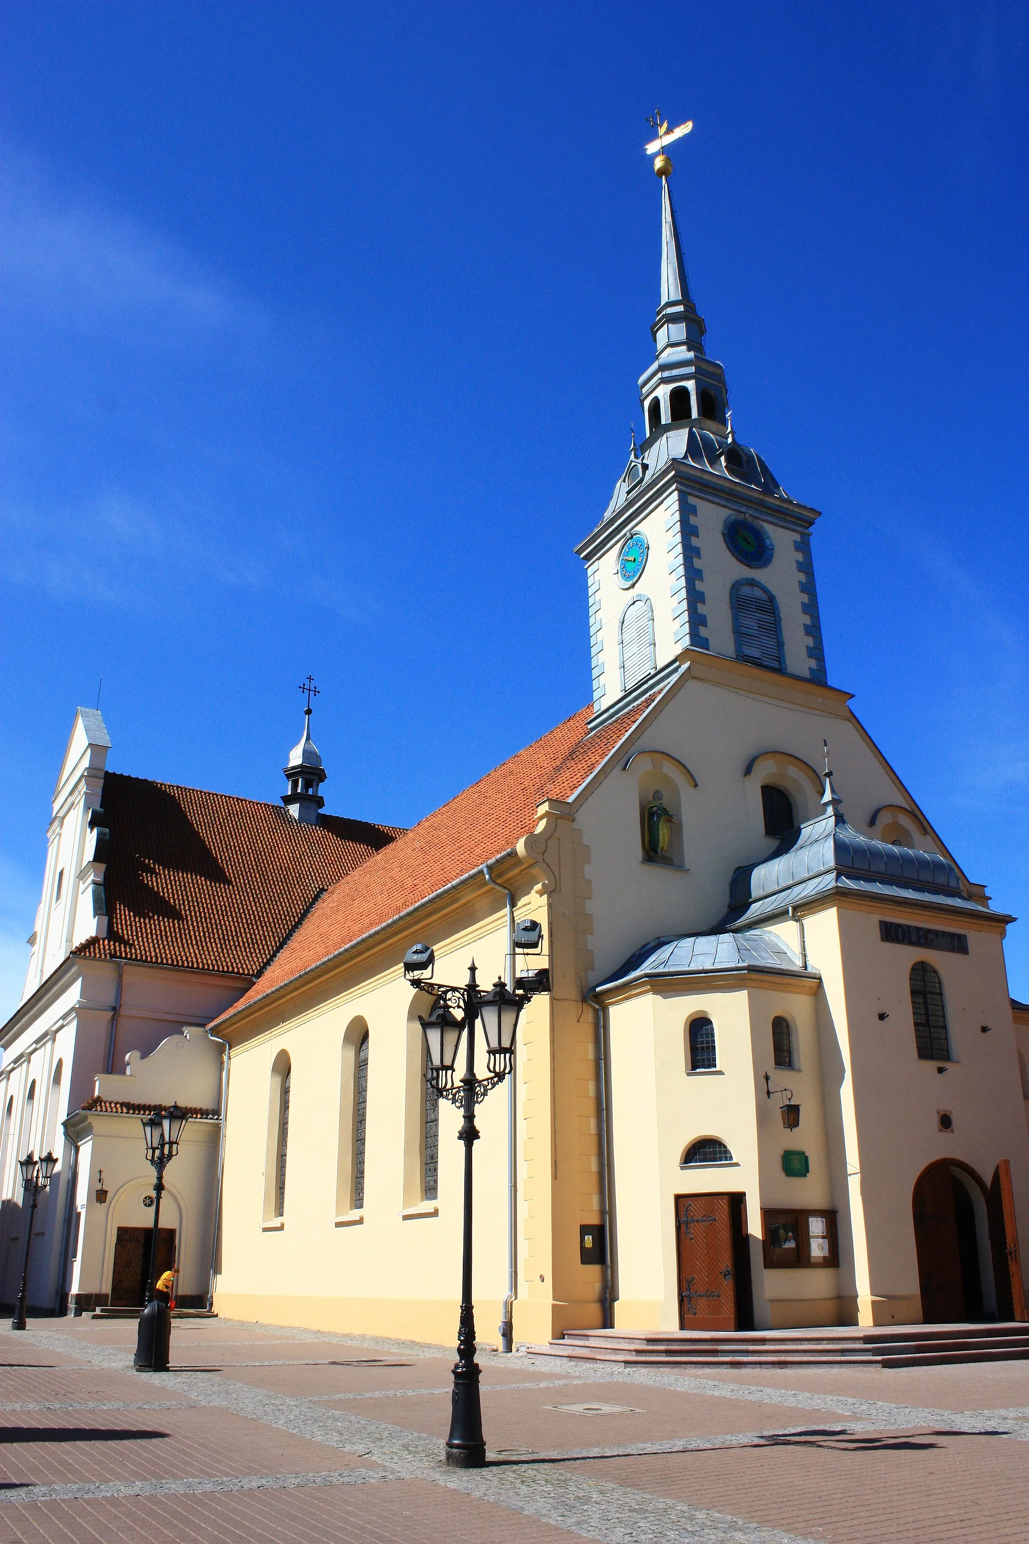
M989 1190L967 1164L929 1164L915 1181L912 1214L924 1323L1026 1317L1006 1158Z

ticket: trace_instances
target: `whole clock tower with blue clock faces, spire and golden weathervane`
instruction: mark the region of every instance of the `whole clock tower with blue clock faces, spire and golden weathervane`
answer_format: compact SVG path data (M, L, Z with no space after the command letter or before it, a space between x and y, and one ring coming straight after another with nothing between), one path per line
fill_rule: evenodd
M683 650L825 682L810 531L791 499L736 438L725 371L708 358L665 147L693 124L649 120L660 179L660 301L654 360L639 380L636 432L611 502L575 548L586 564L592 727L670 681Z

